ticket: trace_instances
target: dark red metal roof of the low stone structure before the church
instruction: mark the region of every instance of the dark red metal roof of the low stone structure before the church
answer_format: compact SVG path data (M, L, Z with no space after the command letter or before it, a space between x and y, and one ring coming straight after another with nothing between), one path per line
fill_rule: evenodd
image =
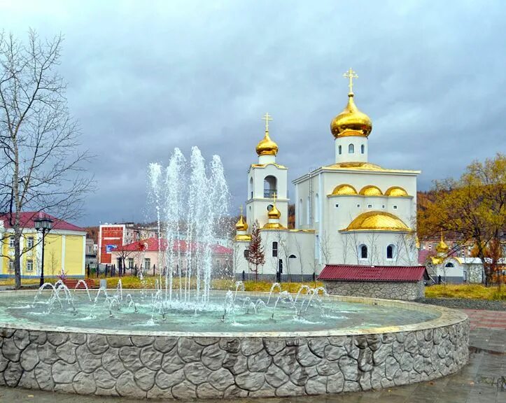
M420 281L423 266L358 266L327 264L318 276L320 280L335 281Z

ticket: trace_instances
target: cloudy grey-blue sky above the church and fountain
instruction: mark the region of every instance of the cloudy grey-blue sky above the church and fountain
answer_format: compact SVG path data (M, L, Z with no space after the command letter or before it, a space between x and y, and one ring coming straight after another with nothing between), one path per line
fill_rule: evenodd
M0 29L64 35L59 72L96 155L78 225L152 218L147 167L175 147L220 155L236 213L266 112L290 182L332 164L350 67L370 162L420 169L419 190L460 176L506 152L505 21L486 0L0 0Z

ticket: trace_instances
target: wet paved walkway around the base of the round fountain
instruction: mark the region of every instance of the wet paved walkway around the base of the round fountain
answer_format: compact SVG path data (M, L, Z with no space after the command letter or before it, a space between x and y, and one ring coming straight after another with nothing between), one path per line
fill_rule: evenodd
M500 315L498 315L500 313ZM496 316L494 319L493 317ZM472 311L470 362L460 372L430 382L363 393L297 397L290 399L245 399L234 403L506 403L506 327L504 312ZM485 318L487 318L485 320ZM141 403L115 397L86 397L36 390L0 387L1 403ZM194 401L195 402L195 401ZM232 403L232 401L206 401Z

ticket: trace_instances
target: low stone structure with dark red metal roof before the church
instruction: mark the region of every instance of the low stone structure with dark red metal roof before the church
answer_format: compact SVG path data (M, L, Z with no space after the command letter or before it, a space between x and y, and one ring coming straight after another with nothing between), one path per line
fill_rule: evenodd
M425 295L423 266L327 264L318 276L336 295L413 300Z

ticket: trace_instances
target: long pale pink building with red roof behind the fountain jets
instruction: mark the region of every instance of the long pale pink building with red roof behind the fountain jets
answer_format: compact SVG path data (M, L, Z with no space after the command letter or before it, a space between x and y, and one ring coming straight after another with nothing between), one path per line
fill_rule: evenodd
M186 241L175 241L172 246L174 253L181 253L181 269L184 272L187 264L185 254L188 251L192 253L197 252L199 249L204 248L203 243L188 243ZM164 253L167 251L167 239L158 239L151 237L142 239L140 241L129 243L125 246L115 248L111 252L111 261L120 267L125 264L127 269L134 269L134 267L143 268L145 271L153 273L153 265L155 265L155 273L160 273L160 268L157 267L160 252L162 252L162 259ZM230 270L232 269L232 249L218 244L213 244L211 248L211 258L213 267L217 269ZM165 266L165 264L163 264ZM174 268L176 269L176 268ZM162 268L163 271L163 268Z

